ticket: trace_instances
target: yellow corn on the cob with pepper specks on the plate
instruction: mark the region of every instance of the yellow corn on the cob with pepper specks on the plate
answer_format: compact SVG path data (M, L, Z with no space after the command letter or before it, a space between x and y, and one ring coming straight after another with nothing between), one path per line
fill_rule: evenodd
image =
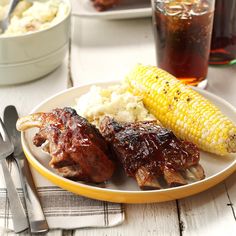
M181 139L202 150L236 152L236 125L210 101L154 66L137 65L127 76L128 89Z

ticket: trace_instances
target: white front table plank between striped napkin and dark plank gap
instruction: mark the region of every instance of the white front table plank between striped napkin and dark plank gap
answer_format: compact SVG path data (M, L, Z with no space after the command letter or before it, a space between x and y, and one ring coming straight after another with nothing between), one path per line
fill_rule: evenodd
M179 235L179 221L175 201L153 204L127 204L126 221L117 227L81 229L74 236L156 236ZM171 224L167 224L167 222Z

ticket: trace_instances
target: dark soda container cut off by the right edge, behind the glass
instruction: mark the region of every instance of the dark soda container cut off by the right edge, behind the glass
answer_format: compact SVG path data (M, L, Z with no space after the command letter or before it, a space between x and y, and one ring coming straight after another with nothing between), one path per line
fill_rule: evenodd
M209 63L236 63L236 0L216 0Z

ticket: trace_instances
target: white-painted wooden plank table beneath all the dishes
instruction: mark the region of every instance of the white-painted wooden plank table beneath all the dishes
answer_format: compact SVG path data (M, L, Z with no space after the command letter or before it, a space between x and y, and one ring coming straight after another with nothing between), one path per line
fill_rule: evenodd
M0 87L0 114L6 105L26 115L45 98L82 83L124 78L136 63L155 64L151 19L99 21L73 18L70 50L48 76ZM0 75L1 76L1 75ZM236 66L209 69L207 90L236 106ZM47 235L236 235L236 173L217 186L185 199L125 205L126 221L105 229L54 230Z

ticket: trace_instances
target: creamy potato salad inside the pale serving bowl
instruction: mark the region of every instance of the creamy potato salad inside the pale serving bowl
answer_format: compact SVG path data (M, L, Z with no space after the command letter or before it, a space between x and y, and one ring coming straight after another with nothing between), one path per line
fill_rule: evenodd
M61 21L68 11L68 4L62 0L22 0L2 35L19 35L49 28Z

